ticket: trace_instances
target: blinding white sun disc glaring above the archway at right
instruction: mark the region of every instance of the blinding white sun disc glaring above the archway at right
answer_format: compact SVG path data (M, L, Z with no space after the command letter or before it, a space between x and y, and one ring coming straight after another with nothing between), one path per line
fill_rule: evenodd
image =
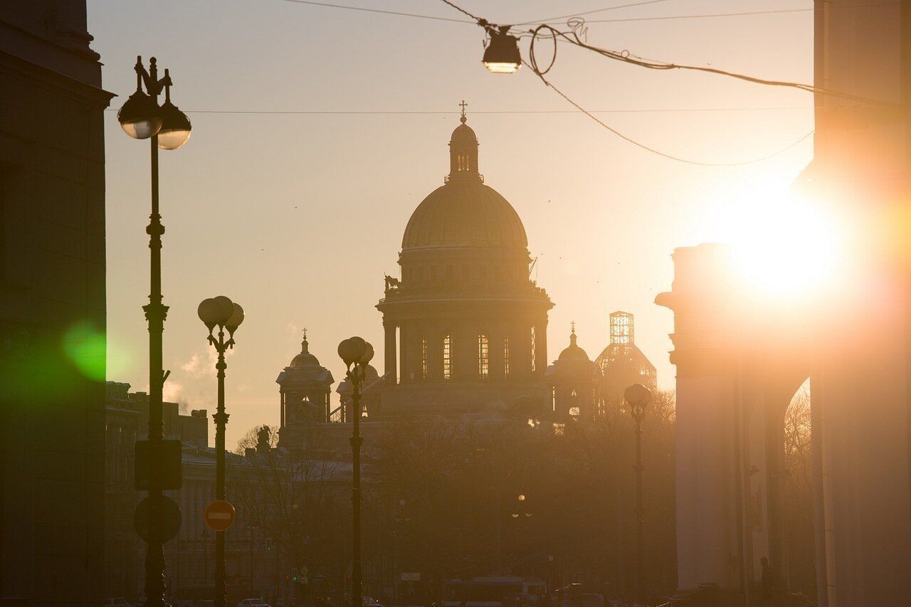
M722 212L722 241L751 290L791 299L817 291L837 269L834 217L790 189L787 181L758 187Z

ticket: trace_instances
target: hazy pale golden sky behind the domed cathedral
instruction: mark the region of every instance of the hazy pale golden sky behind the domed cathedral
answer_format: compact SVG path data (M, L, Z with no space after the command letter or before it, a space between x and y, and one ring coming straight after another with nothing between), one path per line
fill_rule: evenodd
M326 0L334 3L335 0ZM461 18L435 0L339 4ZM615 0L456 3L496 23L630 4ZM809 9L809 0L665 0L587 15L589 42L640 57L812 81L813 13L614 21L669 15ZM558 25L558 21L550 23ZM749 231L763 192L812 157L812 138L739 168L664 159L574 113L523 68L488 74L477 26L303 5L285 0L88 0L89 32L116 109L135 88L137 55L169 67L172 100L192 111L193 135L162 151L165 396L214 410L215 371L196 315L228 295L247 320L230 355L232 448L254 424L276 424L275 377L300 350L336 380L340 340L363 335L382 351L383 277L396 264L411 212L448 172L446 143L468 102L480 170L525 223L537 280L556 307L548 358L569 323L594 358L608 314L636 314L637 344L672 387L670 288L674 247ZM548 53L547 43L541 45ZM527 44L523 43L523 54ZM810 94L700 73L646 70L561 45L548 75L613 128L670 154L736 162L783 149L813 129ZM200 110L442 110L444 114L237 114ZM632 110L632 111L630 111ZM108 379L148 388L148 142L107 112ZM742 220L737 225L738 219ZM382 356L377 361L382 372ZM333 402L337 399L333 395ZM214 430L210 430L210 440Z

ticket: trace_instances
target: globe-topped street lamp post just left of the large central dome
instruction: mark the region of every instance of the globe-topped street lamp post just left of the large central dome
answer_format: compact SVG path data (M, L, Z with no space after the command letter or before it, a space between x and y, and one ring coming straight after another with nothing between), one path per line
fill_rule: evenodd
M345 376L351 382L352 393L352 562L351 562L351 607L363 603L361 576L361 384L366 376L367 364L374 357L374 346L361 337L350 337L339 344L339 356L345 364Z

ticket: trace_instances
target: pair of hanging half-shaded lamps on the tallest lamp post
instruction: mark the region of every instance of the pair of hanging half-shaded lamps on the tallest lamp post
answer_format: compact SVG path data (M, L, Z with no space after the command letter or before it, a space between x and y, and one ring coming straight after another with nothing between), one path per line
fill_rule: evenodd
M137 88L117 114L120 127L133 139L159 136L159 148L178 149L187 142L192 127L189 118L170 102L160 106L155 99Z

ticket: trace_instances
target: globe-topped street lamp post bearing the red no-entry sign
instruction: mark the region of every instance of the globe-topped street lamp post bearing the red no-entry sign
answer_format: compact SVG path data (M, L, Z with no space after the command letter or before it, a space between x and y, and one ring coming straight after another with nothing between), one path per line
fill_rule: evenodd
M225 352L234 347L234 332L243 322L243 308L230 301L224 295L210 297L200 304L200 320L209 329L209 343L219 353L218 370L219 393L218 408L212 418L215 420L215 499L225 499L225 427L228 425L228 414L225 413ZM212 334L219 327L216 337ZM225 329L228 340L225 340ZM225 532L215 532L215 607L225 607Z

